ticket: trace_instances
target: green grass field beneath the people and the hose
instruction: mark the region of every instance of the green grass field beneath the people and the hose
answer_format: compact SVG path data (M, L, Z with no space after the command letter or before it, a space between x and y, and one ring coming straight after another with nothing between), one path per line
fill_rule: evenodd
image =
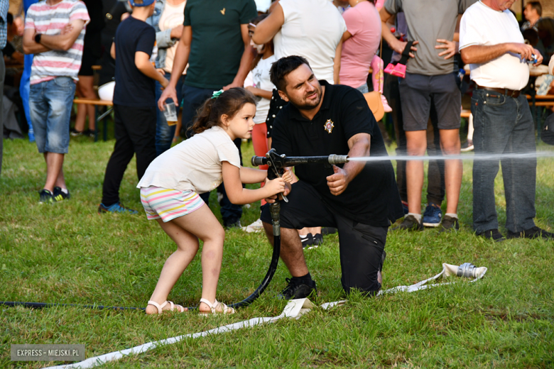
M36 145L4 140L0 300L146 305L175 246L142 211L138 216L97 214L113 145L114 141L72 139L65 162L72 197L49 206L38 204L45 164ZM251 145L244 145L244 158L250 155ZM314 309L298 320L185 339L103 368L554 368L554 243L496 244L474 236L471 167L466 160L460 232L389 233L384 288L435 275L442 263L487 266L483 280L376 299L352 295L344 307ZM496 184L497 211L504 224L500 175ZM133 161L122 183L121 201L141 209L135 185ZM212 210L219 216L216 203L212 194ZM536 207L538 226L553 231L552 158L538 160ZM258 216L254 204L244 209L241 221L246 225ZM261 281L270 258L263 235L228 231L217 298L230 303L246 297ZM320 291L317 302L344 298L337 235L325 236L323 246L306 251L306 258ZM11 362L12 343L84 343L89 358L256 316L277 316L286 302L275 296L288 276L280 263L268 290L251 307L210 319L195 312L146 316L76 307L0 307L0 367L60 364ZM197 257L170 299L196 305L201 281Z

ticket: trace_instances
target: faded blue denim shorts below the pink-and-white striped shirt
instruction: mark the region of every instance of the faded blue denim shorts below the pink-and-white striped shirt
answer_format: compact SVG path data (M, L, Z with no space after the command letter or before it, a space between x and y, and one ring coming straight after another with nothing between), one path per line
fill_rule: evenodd
M31 84L29 110L39 153L67 154L74 97L71 77Z

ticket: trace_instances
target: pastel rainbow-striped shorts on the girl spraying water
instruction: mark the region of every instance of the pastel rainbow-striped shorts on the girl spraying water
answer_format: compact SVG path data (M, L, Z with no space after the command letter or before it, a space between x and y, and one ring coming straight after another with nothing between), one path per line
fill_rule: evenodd
M156 186L141 188L141 202L146 217L166 223L200 209L204 201L194 191L180 191Z

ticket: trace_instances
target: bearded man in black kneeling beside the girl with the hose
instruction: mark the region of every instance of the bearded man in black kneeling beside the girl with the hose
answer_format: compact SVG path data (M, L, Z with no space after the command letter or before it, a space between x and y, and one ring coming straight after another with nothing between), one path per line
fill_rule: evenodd
M270 75L289 102L273 123L272 148L277 153L387 155L379 126L357 89L318 81L308 61L299 56L277 60ZM286 189L289 201L281 202L281 260L292 275L282 297L317 293L296 231L313 226L338 228L344 291L376 294L381 289L386 233L391 221L403 216L390 160L352 161L342 167L298 165L295 173L300 181ZM268 205L262 208L261 220L272 242Z

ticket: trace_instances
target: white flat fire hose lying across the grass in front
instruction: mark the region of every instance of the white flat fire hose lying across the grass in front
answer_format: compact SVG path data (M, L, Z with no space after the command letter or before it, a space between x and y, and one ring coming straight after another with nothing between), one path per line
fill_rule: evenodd
M441 276L443 278L446 278L450 276L460 275L460 268L464 267L465 265L469 265L469 263L465 263L462 265L451 265L451 264L443 263L442 272L440 272L438 275L435 275L434 277L430 277L427 280L423 280L421 282L415 283L415 285L398 286L398 287L389 288L389 290L381 290L379 291L379 294L377 294L377 296L381 294L391 294L396 292L415 292L418 290L426 290L431 287L452 285L452 283L455 283L455 282L440 283L435 285L426 285L426 283L430 282L431 280L437 280ZM473 267L473 265L470 265L470 266ZM480 268L473 267L473 270L474 270L473 278L468 282L475 282L477 280L480 280L487 272L487 268L485 267L480 267ZM321 308L327 310L327 309L331 309L332 307L342 306L346 302L347 300L326 302L325 304L321 305ZM146 351L152 350L153 348L157 348L164 345L170 345L171 343L177 343L179 341L182 341L184 338L199 338L199 337L207 336L209 334L226 333L228 331L249 328L252 326L257 326L259 324L273 323L273 321L278 321L279 319L283 319L283 318L299 319L300 316L307 314L314 307L315 305L309 299L292 299L288 302L285 309L283 309L283 312L281 313L281 315L274 316L273 318L271 317L252 318L249 320L239 321L238 323L228 324L227 326L218 326L217 328L210 329L209 331L202 331L194 334L185 334L183 336L167 338L161 341L148 342L140 346L127 348L126 350L114 351L112 353L106 353L101 356L94 356L94 358L87 358L87 360L83 360L80 363L51 366L45 369L92 368L94 366L102 365L109 361L119 360L120 358L123 358L124 356L127 356L127 355L131 355L131 354L136 355L138 353L144 353Z

